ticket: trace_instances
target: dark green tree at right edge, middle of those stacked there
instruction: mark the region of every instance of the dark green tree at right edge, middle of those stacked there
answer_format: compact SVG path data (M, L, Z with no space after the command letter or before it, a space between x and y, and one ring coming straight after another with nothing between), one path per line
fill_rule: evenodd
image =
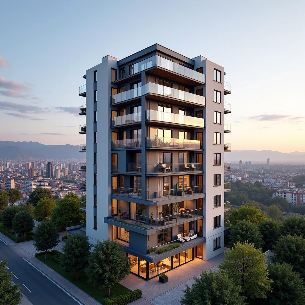
M305 239L298 235L281 235L274 248L274 262L288 263L299 272L302 278L305 278Z

